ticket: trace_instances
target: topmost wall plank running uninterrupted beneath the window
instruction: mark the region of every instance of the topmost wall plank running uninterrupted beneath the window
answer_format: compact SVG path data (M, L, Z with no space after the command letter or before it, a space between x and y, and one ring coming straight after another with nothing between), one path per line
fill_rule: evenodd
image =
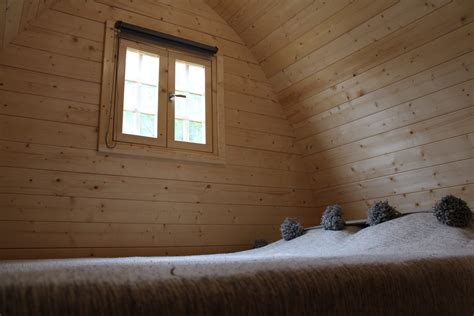
M0 170L2 180L0 193L223 205L301 207L313 205L311 191L305 189L210 184L8 167L0 167Z

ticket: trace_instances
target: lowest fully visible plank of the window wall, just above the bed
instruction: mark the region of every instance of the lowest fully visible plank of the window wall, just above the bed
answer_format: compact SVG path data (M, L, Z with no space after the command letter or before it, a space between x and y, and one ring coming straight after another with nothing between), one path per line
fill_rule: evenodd
M278 239L276 226L0 221L0 248L172 247L252 244ZM16 238L6 238L15 233Z

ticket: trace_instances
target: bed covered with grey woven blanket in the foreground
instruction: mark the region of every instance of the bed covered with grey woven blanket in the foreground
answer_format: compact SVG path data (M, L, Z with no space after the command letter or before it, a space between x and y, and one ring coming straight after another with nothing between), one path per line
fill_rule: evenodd
M232 254L0 263L1 315L473 315L474 229L432 214Z

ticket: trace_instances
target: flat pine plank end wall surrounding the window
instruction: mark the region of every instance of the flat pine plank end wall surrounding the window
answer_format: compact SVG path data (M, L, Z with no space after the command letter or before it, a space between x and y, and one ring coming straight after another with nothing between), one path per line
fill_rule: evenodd
M96 151L108 19L219 47L227 164ZM0 258L235 251L319 221L277 96L200 1L58 1L0 51L0 100Z

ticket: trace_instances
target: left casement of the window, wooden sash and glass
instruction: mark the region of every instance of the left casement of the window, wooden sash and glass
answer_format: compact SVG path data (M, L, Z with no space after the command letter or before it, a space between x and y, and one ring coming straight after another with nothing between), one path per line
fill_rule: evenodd
M166 51L120 40L118 56L116 140L165 146Z

